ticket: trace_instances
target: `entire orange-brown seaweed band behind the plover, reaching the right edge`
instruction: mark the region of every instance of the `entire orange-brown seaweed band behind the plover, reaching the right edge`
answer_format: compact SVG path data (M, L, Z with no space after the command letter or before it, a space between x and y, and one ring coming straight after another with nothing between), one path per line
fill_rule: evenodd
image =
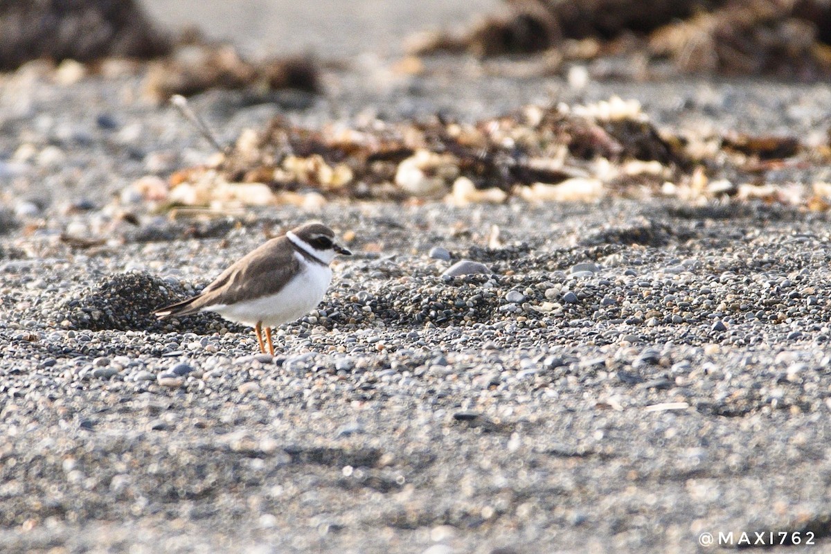
M162 200L228 213L273 203L317 209L334 199L443 198L466 205L657 195L817 210L831 205L831 184L770 184L765 174L798 169L825 150L788 136L659 132L637 101L616 97L531 105L475 125L436 116L307 129L276 117L263 130L243 131L214 164L175 173ZM149 190L158 195L158 189Z

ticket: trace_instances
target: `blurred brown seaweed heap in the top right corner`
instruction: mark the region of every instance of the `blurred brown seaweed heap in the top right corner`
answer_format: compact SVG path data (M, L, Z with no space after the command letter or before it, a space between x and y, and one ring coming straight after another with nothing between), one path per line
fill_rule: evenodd
M589 40L590 57L646 54L683 72L831 74L826 0L507 0L507 8L461 36L427 37L414 51L495 56L555 48L568 61L585 59L586 49L572 43Z

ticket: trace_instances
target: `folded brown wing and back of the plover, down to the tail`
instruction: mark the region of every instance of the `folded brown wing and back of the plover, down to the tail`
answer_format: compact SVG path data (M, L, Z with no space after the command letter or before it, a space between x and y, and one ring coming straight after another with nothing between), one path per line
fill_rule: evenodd
M207 306L253 300L278 291L297 272L300 262L286 237L273 238L241 257L197 296L166 306L156 316L184 316Z

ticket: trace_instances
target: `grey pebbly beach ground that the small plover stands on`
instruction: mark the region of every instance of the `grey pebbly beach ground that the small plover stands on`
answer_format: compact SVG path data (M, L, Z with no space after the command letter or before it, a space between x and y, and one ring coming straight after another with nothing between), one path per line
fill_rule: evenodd
M344 36L349 55L388 40ZM465 59L415 77L356 57L302 109L192 103L224 142L281 113L473 121L612 95L691 134L829 127L828 84L578 90ZM705 534L730 532L722 547L783 532L831 549L828 213L512 199L170 218L125 191L212 151L142 100L139 77L2 76L0 130L0 551L720 552ZM217 316L151 316L312 218L355 255L274 358ZM443 275L464 260L484 267Z

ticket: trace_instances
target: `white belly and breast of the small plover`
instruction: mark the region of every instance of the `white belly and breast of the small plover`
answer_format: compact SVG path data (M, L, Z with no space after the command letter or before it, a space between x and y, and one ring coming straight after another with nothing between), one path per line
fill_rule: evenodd
M307 264L302 267L305 267L303 272L277 294L231 305L208 306L204 310L215 311L229 321L252 327L258 321L262 321L263 327L276 327L294 321L320 303L332 281L329 267Z

